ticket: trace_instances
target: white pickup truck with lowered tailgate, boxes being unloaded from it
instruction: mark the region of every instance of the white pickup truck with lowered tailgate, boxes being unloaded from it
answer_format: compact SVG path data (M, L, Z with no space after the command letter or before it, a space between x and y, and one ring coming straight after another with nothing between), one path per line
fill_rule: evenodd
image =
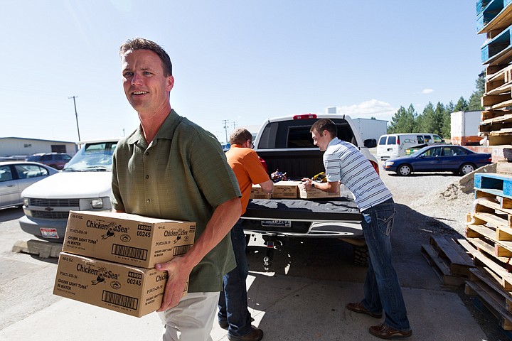
M255 139L255 151L265 160L269 173L279 169L289 180L312 178L324 170L323 152L314 146L309 129L318 119L331 119L338 138L357 146L378 172L378 161L368 148L375 139L363 141L350 117L337 114L303 114L268 119ZM353 195L341 185L341 197L304 199L252 199L242 216L245 233L260 233L267 242L289 237L338 238L353 244L354 261L365 265L368 249L363 238L361 212ZM272 250L269 248L267 250ZM267 255L272 261L272 255ZM265 261L265 265L267 265Z

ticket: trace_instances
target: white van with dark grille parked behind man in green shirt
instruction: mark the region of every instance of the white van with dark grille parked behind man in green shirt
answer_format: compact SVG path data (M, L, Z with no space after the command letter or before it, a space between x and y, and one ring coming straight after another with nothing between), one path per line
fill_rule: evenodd
M112 154L117 141L82 142L63 171L23 190L21 229L40 239L63 242L70 210L112 210Z

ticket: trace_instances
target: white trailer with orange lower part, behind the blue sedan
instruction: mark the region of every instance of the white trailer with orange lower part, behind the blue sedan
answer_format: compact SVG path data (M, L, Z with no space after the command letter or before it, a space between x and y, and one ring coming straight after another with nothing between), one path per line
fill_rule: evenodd
M452 112L451 119L451 139L452 144L459 146L478 146L480 140L479 126L481 121L481 112Z

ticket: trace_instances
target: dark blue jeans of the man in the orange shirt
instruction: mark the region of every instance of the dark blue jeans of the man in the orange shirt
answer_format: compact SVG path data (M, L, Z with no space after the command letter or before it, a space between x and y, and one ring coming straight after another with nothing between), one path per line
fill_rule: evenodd
M249 267L245 256L245 235L241 219L233 226L230 235L237 267L224 275L224 291L220 293L218 303L218 320L228 321L228 335L244 336L251 332L252 327L251 315L247 309L245 280Z

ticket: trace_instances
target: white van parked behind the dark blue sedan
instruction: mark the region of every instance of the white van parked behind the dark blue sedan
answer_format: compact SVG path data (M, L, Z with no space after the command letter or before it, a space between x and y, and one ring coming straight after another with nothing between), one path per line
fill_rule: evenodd
M444 143L444 139L437 134L386 134L379 138L377 157L380 160L399 158L406 155L407 148L422 148L431 144L442 143Z

